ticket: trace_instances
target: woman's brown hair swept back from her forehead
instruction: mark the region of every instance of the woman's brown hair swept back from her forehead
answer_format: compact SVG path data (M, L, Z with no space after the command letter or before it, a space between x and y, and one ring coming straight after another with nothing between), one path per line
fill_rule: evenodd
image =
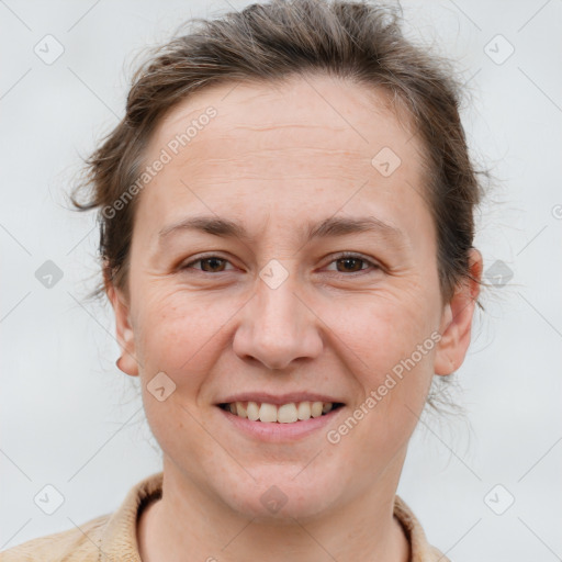
M194 91L218 82L273 81L326 72L383 90L407 110L426 149L428 200L437 228L441 294L470 278L481 188L459 116L461 88L446 60L406 41L396 7L369 2L273 0L214 20L151 53L133 77L126 114L87 160L89 199L99 210L106 279L126 289L135 201L119 205L143 173L144 151L162 115ZM111 213L106 210L112 210ZM103 285L98 293L103 292Z

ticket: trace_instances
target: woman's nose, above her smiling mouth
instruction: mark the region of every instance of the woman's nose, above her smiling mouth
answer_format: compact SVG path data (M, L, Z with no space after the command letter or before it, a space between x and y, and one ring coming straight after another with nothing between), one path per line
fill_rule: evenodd
M282 370L297 359L319 356L322 322L297 293L289 279L277 289L258 281L256 295L240 311L243 318L233 341L238 357Z

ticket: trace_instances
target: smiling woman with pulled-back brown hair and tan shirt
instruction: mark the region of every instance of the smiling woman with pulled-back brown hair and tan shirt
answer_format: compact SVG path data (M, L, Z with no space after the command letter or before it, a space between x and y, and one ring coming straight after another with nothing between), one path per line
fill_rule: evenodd
M447 560L396 496L482 274L441 68L391 9L313 0L154 54L77 205L162 472L2 560Z

